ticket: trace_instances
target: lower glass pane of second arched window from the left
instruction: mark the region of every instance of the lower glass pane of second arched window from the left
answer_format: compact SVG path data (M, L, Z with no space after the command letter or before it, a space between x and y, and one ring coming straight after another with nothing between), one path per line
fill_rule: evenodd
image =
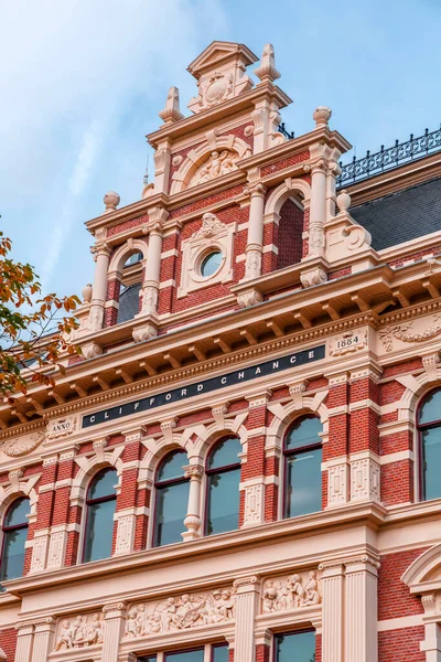
M111 556L115 506L116 499L88 506L84 546L85 563Z

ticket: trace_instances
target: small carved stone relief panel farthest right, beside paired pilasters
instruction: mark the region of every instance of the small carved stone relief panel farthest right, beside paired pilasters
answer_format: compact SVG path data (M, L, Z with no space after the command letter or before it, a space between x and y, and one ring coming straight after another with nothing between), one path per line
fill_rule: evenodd
M267 579L262 591L262 612L272 613L320 605L322 594L319 583L320 577L316 570Z

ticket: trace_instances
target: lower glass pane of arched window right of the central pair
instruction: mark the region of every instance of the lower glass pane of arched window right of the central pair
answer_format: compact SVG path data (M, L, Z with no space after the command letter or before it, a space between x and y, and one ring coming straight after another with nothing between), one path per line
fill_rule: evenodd
M287 458L286 516L295 517L322 510L322 449Z

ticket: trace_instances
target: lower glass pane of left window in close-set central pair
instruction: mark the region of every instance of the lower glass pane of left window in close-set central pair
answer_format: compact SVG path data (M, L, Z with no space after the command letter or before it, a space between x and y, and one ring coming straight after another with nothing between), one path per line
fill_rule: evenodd
M181 458L182 461L182 458ZM157 488L154 545L181 543L189 505L189 481Z

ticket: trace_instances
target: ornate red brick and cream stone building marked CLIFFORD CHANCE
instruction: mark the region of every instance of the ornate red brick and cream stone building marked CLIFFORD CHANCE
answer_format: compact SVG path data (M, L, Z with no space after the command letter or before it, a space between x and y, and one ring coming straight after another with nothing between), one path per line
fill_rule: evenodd
M440 136L342 172L256 61L170 89L82 356L0 407L0 660L441 661Z

